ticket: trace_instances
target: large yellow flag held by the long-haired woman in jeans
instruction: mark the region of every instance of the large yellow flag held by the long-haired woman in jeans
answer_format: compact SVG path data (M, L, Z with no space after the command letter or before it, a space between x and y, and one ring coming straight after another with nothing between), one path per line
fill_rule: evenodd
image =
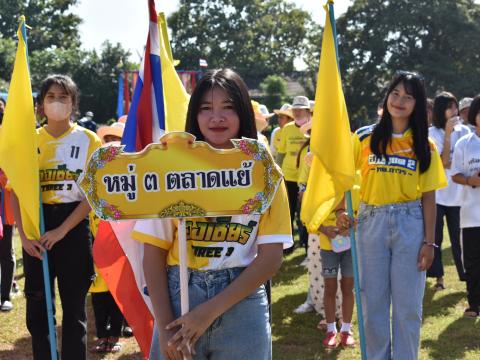
M350 125L332 30L335 19L328 6L325 11L310 144L314 157L301 211L309 232L318 231L355 180Z

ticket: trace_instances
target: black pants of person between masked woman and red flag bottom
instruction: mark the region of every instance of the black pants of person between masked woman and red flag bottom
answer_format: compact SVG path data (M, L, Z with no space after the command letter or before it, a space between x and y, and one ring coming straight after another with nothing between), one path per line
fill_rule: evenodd
M97 337L120 337L123 315L110 291L92 293L92 305Z

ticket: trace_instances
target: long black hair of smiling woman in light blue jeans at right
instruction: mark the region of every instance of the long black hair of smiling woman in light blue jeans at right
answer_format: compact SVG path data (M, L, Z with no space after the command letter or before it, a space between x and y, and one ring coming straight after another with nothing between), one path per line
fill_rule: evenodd
M425 85L423 77L417 73L399 71L395 74L383 100L383 114L372 132L370 149L377 157L387 157L387 145L393 133L392 117L388 112L387 101L390 93L400 83L405 87L405 91L415 99L415 107L410 115L408 126L412 129L413 151L420 165L420 173L424 173L430 167L432 156L428 142Z

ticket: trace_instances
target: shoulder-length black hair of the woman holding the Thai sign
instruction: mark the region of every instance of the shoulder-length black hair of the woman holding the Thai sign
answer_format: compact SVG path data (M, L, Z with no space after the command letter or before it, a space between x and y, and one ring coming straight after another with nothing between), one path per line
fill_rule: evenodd
M202 79L197 83L190 97L185 131L195 135L197 140L204 140L200 132L197 116L205 93L215 87L227 93L240 119L238 137L256 139L257 129L255 127L255 115L253 113L250 96L248 95L247 85L245 85L240 75L231 69L210 70L203 74Z

